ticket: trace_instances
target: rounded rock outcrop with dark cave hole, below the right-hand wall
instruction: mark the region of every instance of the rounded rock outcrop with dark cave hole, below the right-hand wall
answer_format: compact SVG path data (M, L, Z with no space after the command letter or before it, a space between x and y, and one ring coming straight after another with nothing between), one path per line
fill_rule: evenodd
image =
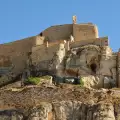
M111 88L116 85L116 59L113 59L112 50L108 46L84 45L71 48L65 65L66 71L74 72L67 72L67 75L82 77L85 87ZM107 85L106 77L109 79Z

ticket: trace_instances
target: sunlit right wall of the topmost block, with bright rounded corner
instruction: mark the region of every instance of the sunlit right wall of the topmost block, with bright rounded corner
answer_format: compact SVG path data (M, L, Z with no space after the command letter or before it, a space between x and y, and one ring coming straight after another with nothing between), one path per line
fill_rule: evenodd
M93 24L73 24L75 41L98 38L97 26Z

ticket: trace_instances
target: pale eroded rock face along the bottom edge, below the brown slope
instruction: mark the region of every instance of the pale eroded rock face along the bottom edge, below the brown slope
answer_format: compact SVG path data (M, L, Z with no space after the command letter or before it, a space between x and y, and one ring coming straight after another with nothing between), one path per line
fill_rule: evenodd
M29 110L5 110L0 120L119 120L112 104L88 105L79 101L41 103Z

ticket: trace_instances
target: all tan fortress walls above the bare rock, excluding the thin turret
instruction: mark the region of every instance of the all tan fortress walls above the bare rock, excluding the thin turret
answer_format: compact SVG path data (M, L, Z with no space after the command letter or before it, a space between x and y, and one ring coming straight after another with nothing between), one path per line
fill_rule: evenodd
M97 27L91 23L65 24L49 27L37 36L0 45L0 55L10 57L12 64L15 65L14 72L20 72L25 68L28 52L32 51L33 63L48 62L58 51L59 44L64 43L64 40L69 40L71 34L75 37L75 41L70 42L71 48L88 44L108 45L107 37L97 38ZM44 41L46 39L48 46ZM66 42L65 48L69 49L68 42Z

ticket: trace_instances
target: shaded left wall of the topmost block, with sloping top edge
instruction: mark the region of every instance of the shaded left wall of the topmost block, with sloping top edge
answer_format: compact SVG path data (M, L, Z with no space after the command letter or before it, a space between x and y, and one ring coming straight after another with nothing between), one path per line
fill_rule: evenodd
M72 24L57 25L43 31L43 36L45 36L45 38L48 38L49 41L56 41L60 39L64 40L69 39L69 36L72 34L72 32Z

